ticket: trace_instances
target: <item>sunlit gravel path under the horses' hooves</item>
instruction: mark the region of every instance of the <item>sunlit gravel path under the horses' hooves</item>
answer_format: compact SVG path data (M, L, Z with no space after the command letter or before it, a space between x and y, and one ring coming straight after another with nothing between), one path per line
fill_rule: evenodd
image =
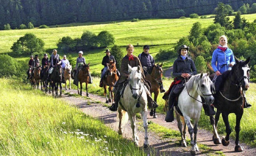
M103 90L102 90L103 91ZM70 94L77 94L76 90L66 90L65 92L69 92ZM83 95L85 93L83 92ZM72 105L78 106L85 114L88 114L90 116L93 116L94 118L97 118L99 120L102 120L106 126L112 128L114 131L118 131L118 118L117 113L110 111L107 107L104 107L102 103L104 103L106 100L102 96L90 94L90 99L82 98L82 97L74 97L74 96L68 96L63 95L63 100L70 102ZM99 103L98 101L102 102ZM177 122L174 120L174 122L165 122L164 121L164 114L158 114L158 118L152 118L152 116L149 116L148 111L148 121L152 121L154 123L157 123L161 126L164 126L166 128L178 130ZM210 120L209 120L210 124ZM139 146L143 145L144 141L144 129L138 128L137 130L138 136L140 138L139 140ZM130 128L130 123L126 124L124 127L124 137L129 138L132 140L132 131ZM165 155L165 156L186 156L190 155L190 147L184 148L180 147L180 145L177 145L175 143L176 140L172 139L166 139L161 138L154 132L148 132L148 142L150 144L150 147L152 147L155 151L155 155ZM189 137L189 134L187 132L187 138ZM234 152L235 143L234 140L230 140L229 146L222 146L213 144L212 140L212 133L208 132L206 130L198 130L197 140L199 144L206 144L208 147L212 148L212 154L215 154L216 151L222 151L227 156L253 156L256 153L256 149L252 148L250 146L247 146L245 144L242 144L244 147L243 152L236 153ZM179 140L180 141L180 140ZM152 149L149 148L149 149ZM148 149L147 149L148 150ZM199 148L200 150L200 148ZM148 151L147 151L148 152ZM149 153L149 152L148 152ZM201 150L198 153L198 155L203 156L206 154L202 154Z

